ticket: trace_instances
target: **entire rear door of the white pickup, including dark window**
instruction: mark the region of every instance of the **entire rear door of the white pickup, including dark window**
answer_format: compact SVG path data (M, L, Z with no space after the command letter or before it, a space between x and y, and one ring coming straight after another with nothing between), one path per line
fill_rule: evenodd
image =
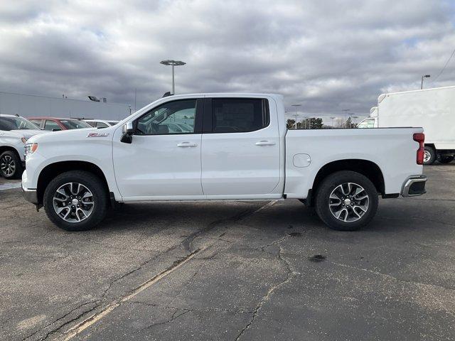
M247 99L245 99L247 100ZM267 101L267 99L264 99ZM254 110L257 105L254 102ZM272 107L272 106L271 106ZM261 128L252 106L240 101L212 99L212 131L202 136L202 185L205 195L266 195L279 183L279 130L277 121ZM275 110L274 106L271 110ZM216 111L216 112L215 112ZM268 114L267 105L267 114ZM205 115L208 115L205 110ZM254 116L254 117L253 117ZM277 114L269 115L274 120ZM247 122L250 122L249 124ZM264 125L265 125L264 124ZM231 132L221 132L231 131ZM235 132L245 131L245 132Z

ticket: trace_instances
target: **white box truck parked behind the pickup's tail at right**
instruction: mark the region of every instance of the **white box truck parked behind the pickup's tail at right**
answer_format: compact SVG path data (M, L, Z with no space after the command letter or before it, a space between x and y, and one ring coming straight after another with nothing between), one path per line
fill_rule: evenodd
M373 119L374 122L367 121ZM365 121L365 122L364 122ZM360 126L362 124L363 126ZM422 126L425 164L447 163L455 156L455 87L381 94L378 107L359 127Z

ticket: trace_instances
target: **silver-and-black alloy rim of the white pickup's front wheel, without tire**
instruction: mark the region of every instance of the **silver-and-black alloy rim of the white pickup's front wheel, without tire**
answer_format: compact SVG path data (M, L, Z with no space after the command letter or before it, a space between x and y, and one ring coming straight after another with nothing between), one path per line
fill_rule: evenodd
M65 222L82 222L93 212L95 201L90 190L81 183L65 183L53 197L55 213Z

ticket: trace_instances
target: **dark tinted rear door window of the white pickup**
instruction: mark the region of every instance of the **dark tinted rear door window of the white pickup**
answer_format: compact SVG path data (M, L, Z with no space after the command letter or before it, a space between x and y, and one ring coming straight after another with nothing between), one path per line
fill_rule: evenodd
M267 99L214 98L212 115L214 133L245 133L269 125Z

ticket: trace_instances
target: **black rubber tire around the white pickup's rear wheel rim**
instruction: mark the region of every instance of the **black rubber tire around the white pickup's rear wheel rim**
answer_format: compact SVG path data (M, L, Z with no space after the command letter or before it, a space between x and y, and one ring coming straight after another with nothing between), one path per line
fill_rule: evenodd
M354 212L360 212L360 217L358 217L358 213L355 213L356 216L353 219L358 219L356 221L344 222L340 219L337 219L332 214L329 207L329 204L331 203L331 193L343 183L353 183L360 185L368 195L368 207L366 208L366 212L359 210L355 211L355 208L357 207L350 207L350 205L347 205L349 207L346 207L346 210L350 215L353 215ZM353 195L353 197L355 197L355 195ZM346 197L346 199L348 199L348 197ZM346 201L340 200L340 205L345 205L345 202ZM355 231L361 227L364 227L373 219L373 217L375 217L375 214L378 211L378 202L378 191L370 179L360 173L353 171L339 171L328 175L328 177L322 181L321 185L319 185L319 188L316 192L315 206L316 212L321 220L331 229L336 229L338 231ZM344 206L341 208L344 209ZM348 213L346 213L346 215ZM339 216L341 217L341 215ZM344 214L343 218L346 218Z

